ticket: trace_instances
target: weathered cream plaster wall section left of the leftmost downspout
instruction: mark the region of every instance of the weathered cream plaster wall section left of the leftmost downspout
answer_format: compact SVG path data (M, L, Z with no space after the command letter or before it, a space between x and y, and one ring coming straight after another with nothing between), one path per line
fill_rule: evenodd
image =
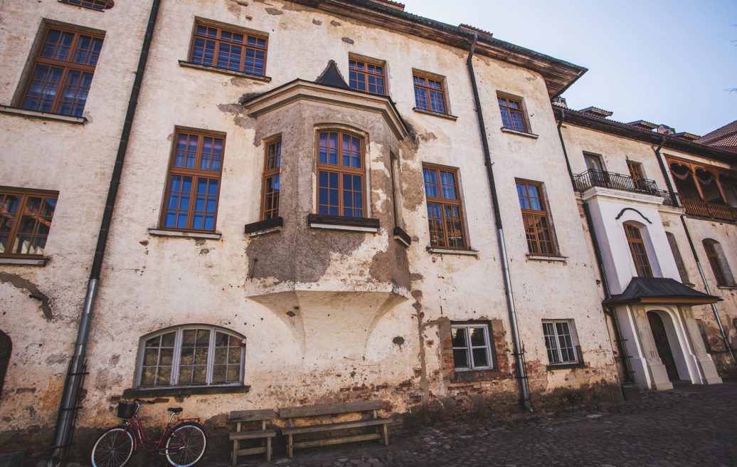
M0 264L0 329L13 340L0 398L4 450L52 436L148 15L146 2L118 3L99 13L56 0L0 1L2 105L18 105L43 20L105 32L84 125L0 114L0 185L59 192L46 266Z

